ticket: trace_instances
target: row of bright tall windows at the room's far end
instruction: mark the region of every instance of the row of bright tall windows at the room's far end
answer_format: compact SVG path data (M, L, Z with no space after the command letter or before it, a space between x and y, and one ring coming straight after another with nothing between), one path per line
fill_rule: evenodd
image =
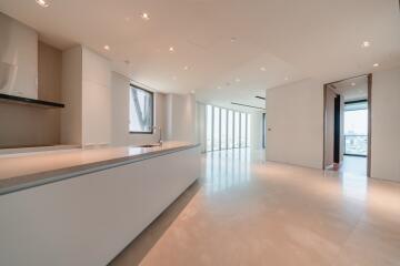
M207 149L219 151L250 145L250 114L207 105Z

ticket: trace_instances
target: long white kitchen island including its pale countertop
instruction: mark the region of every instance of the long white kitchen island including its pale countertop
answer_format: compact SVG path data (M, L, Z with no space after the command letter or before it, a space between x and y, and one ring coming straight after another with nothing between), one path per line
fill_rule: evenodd
M107 265L200 174L199 145L0 156L0 265Z

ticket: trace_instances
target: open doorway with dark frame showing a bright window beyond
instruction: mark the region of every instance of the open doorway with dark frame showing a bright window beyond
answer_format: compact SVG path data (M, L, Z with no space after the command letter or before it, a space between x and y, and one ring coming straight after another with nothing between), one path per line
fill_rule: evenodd
M323 168L370 176L372 74L324 84Z

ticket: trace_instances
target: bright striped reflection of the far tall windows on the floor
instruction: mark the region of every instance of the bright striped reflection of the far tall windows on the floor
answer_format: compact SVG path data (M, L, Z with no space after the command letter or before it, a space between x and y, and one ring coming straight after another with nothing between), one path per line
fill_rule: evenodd
M243 185L251 178L250 149L209 152L204 160L204 188L208 194Z

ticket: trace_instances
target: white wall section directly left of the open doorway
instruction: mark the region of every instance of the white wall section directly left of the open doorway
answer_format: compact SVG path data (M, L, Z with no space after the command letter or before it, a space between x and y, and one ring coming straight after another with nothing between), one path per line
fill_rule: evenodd
M267 160L322 167L323 84L303 80L267 90Z

